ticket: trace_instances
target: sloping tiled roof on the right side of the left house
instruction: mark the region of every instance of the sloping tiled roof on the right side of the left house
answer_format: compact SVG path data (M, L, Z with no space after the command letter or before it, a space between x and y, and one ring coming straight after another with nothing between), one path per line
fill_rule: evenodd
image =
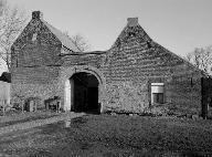
M42 22L50 29L50 31L62 42L62 44L70 49L73 52L80 52L81 50L75 45L75 43L73 42L73 40L71 38L68 38L66 34L62 33L60 30L57 30L56 28L52 27L50 23L47 23L46 21L44 21L42 19Z

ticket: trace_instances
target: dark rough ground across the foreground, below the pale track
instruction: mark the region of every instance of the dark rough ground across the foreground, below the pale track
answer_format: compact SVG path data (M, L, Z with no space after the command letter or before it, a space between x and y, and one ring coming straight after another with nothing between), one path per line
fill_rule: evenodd
M212 156L212 121L86 115L0 137L0 156Z

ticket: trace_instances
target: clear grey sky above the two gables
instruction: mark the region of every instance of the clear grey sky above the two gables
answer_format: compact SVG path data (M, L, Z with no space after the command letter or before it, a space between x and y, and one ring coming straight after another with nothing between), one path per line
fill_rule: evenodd
M112 46L127 18L170 51L184 55L212 44L212 0L9 0L29 17L34 10L71 35L82 34L92 50Z

